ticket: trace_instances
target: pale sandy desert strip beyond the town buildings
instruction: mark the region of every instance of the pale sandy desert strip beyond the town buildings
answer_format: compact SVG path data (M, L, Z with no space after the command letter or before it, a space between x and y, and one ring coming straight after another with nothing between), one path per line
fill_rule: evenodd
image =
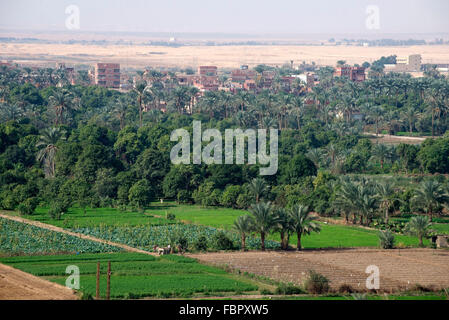
M154 54L157 52L158 54ZM250 67L257 64L282 65L293 60L295 64L314 61L318 65L335 65L338 60L361 64L373 62L381 56L408 56L421 54L423 63L447 63L449 46L185 46L161 47L150 45L81 45L81 44L31 44L2 43L0 56L24 64L47 64L55 62L70 64L93 64L117 62L122 68L151 67L197 67L216 65L220 68L237 68L241 64Z

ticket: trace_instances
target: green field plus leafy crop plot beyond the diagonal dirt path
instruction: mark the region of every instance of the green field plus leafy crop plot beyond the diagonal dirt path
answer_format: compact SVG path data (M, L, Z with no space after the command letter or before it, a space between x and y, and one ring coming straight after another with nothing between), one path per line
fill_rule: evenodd
M35 215L27 218L144 250L152 250L154 244L169 244L170 237L176 236L171 230L177 230L178 234L191 233L192 236L189 241L193 243L201 235L210 238L216 232L215 228L220 228L228 230L235 244L239 245L238 235L231 231L232 224L238 216L247 213L244 210L230 208L203 208L175 203L167 203L163 206L153 203L145 211L145 214L99 208L88 209L87 214L84 215L81 209L72 208L61 220L51 219L47 211L40 208ZM165 219L166 213L175 214L176 219L174 221ZM179 224L182 222L188 224ZM174 223L178 224L170 226ZM320 226L320 233L314 233L303 238L304 248L377 247L379 245L378 231L374 229L330 223L320 223ZM447 223L435 223L433 228L442 233L449 233L448 226ZM259 239L256 234L253 237L254 240L250 240L249 246L251 249L256 249ZM270 234L268 240L279 242L279 234ZM296 235L292 234L289 243L295 246L296 241ZM428 245L429 241L425 239L424 243ZM418 241L415 237L398 234L396 235L396 244L403 247L413 247L417 246ZM276 246L273 243L269 247L275 248Z

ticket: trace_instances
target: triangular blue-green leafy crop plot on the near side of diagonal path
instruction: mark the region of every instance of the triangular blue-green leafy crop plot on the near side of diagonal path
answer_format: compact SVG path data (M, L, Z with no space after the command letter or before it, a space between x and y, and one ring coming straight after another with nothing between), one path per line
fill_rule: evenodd
M0 253L4 255L117 251L122 249L0 218Z

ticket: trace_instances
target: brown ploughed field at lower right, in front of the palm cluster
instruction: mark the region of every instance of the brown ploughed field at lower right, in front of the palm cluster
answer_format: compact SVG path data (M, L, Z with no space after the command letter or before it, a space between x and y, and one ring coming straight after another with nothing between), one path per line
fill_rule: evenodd
M233 252L191 254L203 263L228 265L283 282L301 284L309 270L325 275L338 289L347 284L365 289L365 269L380 270L380 289L394 291L420 284L436 289L449 287L449 251L431 249L336 249L303 252Z

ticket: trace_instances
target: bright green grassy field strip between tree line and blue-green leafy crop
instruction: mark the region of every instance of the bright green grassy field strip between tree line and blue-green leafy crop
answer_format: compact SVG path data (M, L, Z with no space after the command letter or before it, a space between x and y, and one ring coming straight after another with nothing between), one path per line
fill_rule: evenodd
M176 216L175 221L165 219L167 213L173 213ZM229 208L203 208L195 205L177 205L175 203L153 203L151 207L145 210L145 213L138 212L120 212L113 208L88 209L85 215L82 209L72 208L61 219L54 220L47 214L47 209L39 208L37 213L27 218L61 226L70 229L104 227L130 227L141 228L146 226L159 226L166 224L193 223L204 226L231 230L235 219L243 214L244 210L234 210ZM377 247L379 245L378 231L368 230L358 226L345 226L338 224L321 224L322 230L319 234L313 233L302 238L304 248L347 248L347 247ZM434 224L434 229L440 232L449 233L449 224ZM98 236L98 235L97 235ZM146 235L140 235L146 236ZM254 234L254 237L258 235ZM109 240L113 240L108 236ZM279 241L278 234L271 234L269 240ZM114 239L117 242L126 241ZM296 245L296 235L290 237L290 244ZM424 242L426 245L428 240ZM152 244L151 244L152 245ZM406 235L396 235L396 245L417 246L418 239Z

